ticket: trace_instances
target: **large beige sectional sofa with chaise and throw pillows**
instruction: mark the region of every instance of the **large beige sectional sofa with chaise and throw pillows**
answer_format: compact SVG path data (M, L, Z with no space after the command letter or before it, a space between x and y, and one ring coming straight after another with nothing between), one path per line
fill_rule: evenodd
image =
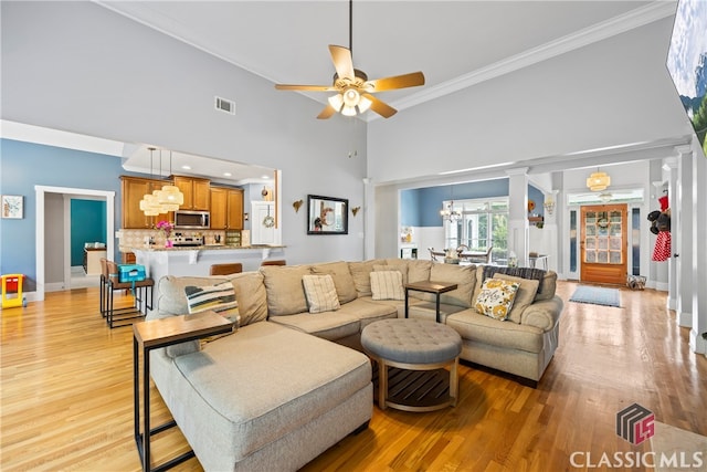
M371 365L360 352L360 332L404 316L408 282L457 284L442 295L440 315L462 335L463 359L531 382L541 378L558 346L557 275L521 271L526 277L517 277L489 268L379 259L166 276L148 319L193 312L188 286L226 286L240 326L208 343L155 350L150 373L205 470L296 470L367 427ZM475 308L492 277L518 285L506 321ZM435 319L433 295L410 292L409 306L410 317Z

